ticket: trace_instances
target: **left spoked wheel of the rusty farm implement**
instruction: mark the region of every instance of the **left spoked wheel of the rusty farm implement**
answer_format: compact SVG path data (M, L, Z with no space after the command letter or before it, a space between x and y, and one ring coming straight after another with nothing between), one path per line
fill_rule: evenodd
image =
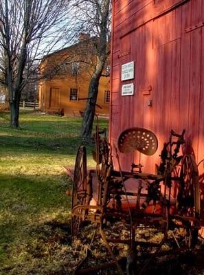
M87 196L87 151L85 146L78 148L73 174L72 200L71 200L71 234L78 236L80 225L84 220L85 210L73 213L76 206L83 206Z

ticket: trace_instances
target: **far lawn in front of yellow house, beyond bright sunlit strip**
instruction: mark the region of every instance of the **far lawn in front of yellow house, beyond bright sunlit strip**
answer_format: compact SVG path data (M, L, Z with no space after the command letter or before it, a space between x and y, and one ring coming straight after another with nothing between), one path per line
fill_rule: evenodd
M2 113L0 112L0 119ZM7 118L4 115L3 118ZM58 153L76 155L78 146L86 145L91 152L93 144L87 144L80 137L81 118L60 118L57 115L34 115L23 113L20 129L1 126L0 143L2 152L10 151L32 153ZM107 127L108 121L102 120L100 128ZM94 131L94 130L93 130Z

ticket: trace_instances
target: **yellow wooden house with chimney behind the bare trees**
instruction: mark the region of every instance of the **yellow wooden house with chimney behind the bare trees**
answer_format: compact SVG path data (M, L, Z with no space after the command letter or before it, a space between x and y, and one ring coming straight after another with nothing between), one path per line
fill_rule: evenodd
M41 62L39 108L46 113L79 115L85 109L91 74L95 65L95 38L80 34L79 42L44 56ZM109 65L100 78L97 113L109 114Z

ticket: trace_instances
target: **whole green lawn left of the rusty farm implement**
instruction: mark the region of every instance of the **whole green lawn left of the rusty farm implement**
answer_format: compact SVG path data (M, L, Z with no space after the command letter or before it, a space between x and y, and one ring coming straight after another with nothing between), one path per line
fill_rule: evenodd
M0 113L0 274L71 274L82 252L71 243L63 165L74 166L82 120L23 111L18 130L9 120Z

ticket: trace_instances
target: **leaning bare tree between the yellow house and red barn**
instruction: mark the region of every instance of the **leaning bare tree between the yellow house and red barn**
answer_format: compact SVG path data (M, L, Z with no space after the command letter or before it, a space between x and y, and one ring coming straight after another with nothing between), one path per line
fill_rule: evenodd
M82 137L89 140L93 128L95 104L98 97L100 77L110 54L111 0L76 1L76 10L82 14L80 22L86 32L95 36L95 69L89 84L89 96L82 121Z

